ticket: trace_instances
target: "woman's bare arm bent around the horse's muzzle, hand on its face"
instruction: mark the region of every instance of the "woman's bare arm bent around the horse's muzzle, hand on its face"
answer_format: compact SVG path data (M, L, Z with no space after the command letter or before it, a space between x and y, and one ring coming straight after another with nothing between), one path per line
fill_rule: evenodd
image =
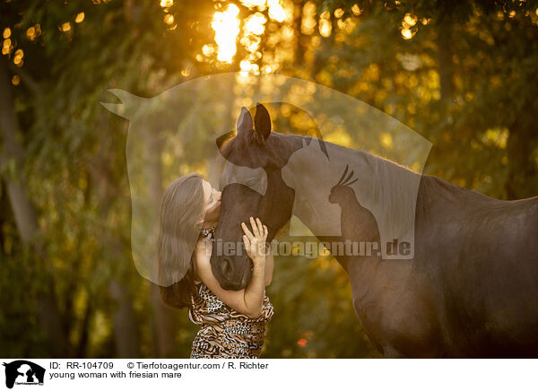
M257 237L261 235L260 230L257 227L255 230L254 227L256 222L253 222L254 220L251 220L251 224L253 224L253 230L255 231L255 236L253 236L252 239L249 239L249 241L256 242L256 245L259 245L259 242L254 239L256 238L256 233ZM261 222L259 222L259 226L262 227ZM262 227L261 230L263 232L264 228ZM252 271L252 278L250 282L248 282L247 288L240 291L228 291L221 288L221 284L213 275L213 271L210 264L211 251L207 251L208 247L211 247L211 243L208 241L203 241L202 244L196 246L196 269L198 276L200 277L202 282L204 282L204 284L211 291L213 291L213 293L216 294L224 303L226 303L228 306L235 309L239 313L251 318L259 317L263 309L265 296L264 252L261 251L261 255L259 256L252 256L254 269Z

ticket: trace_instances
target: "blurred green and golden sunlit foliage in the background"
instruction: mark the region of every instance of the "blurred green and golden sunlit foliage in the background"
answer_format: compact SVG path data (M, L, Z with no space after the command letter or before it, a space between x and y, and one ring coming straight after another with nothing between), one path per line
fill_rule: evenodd
M13 46L0 61L9 65L10 79L20 78L12 91L24 152L23 186L44 244L41 252L23 246L6 186L16 170L13 159L0 159L5 357L46 357L50 351L37 308L39 290L47 287L45 271L54 277L70 355L119 354L120 304L111 298L111 280L124 288L132 306L140 355L159 354L151 286L135 273L131 256L127 124L99 102L113 101L109 88L152 97L199 75L238 70L240 60L250 56L242 44L231 64L201 54L213 42L211 15L229 2L176 1L165 11L153 0L92 3L0 1L0 34L9 28ZM313 18L319 22L329 12L332 30L323 36L318 25L308 33L300 29L306 3L294 2L299 12L291 22L274 22L267 10L260 11L267 22L260 56L252 60L259 69L271 65L346 92L404 122L434 144L427 173L503 199L538 194L536 2L322 0L314 2ZM256 12L242 4L239 9L242 19ZM83 21L75 22L80 13ZM165 13L173 24L163 22ZM404 24L406 17L412 25ZM287 41L284 27L293 30ZM31 39L29 29L34 29ZM19 49L22 63L16 64ZM165 126L163 133L209 137L201 129L210 126L196 127L197 109L193 104L182 128ZM284 125L304 125L300 117L288 120ZM178 164L202 155L196 144L201 143L184 145L185 161ZM5 145L0 147L4 157ZM165 164L163 178L174 177L176 167ZM265 357L377 357L355 317L347 275L334 259L276 257L267 293L275 315ZM187 357L196 327L186 310L171 318L169 354Z

